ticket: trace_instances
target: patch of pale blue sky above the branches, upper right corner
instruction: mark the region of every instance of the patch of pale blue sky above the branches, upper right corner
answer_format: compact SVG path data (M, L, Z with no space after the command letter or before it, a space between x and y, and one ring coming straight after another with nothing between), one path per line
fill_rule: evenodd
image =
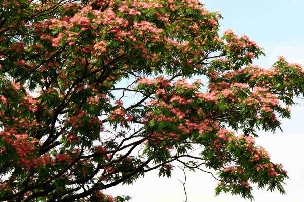
M302 55L290 53L290 47L293 52L303 51L304 0L205 0L203 3L210 11L222 14L221 33L231 28L236 34L248 35L265 48L267 56L257 64L270 66L277 57L275 54L285 54L291 60ZM304 62L303 58L300 60Z

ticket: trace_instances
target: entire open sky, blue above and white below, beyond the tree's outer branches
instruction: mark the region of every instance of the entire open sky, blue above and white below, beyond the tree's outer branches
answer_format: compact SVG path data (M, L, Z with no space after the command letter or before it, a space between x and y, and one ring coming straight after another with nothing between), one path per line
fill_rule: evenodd
M210 11L219 11L220 33L233 29L238 35L247 35L264 48L266 57L256 65L270 67L277 56L288 62L304 65L304 0L204 0ZM302 102L304 103L304 101ZM255 201L302 202L304 200L304 105L291 108L290 120L282 120L283 132L270 134L261 131L257 144L265 147L273 162L283 163L290 177L286 181L286 195L254 188ZM245 202L240 196L214 195L217 181L208 173L187 171L187 202ZM183 173L174 170L171 178L158 178L157 172L148 173L134 185L116 186L107 190L113 195L131 196L133 202L185 201ZM253 186L254 187L254 186Z

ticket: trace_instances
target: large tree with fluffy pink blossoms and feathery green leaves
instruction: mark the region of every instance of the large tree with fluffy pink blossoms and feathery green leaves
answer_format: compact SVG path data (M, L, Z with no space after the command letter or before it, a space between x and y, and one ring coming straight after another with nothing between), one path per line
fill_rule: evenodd
M216 171L216 194L284 193L254 137L290 118L304 72L252 65L262 49L220 18L197 0L1 1L0 201L127 201L102 190L172 162Z

